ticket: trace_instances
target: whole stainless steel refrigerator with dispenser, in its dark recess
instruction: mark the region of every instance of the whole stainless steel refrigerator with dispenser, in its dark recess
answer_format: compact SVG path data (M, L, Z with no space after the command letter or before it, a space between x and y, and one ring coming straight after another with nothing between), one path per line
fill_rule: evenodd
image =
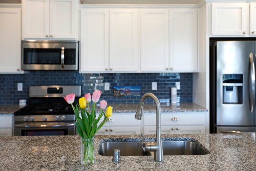
M256 132L253 39L210 39L210 133Z

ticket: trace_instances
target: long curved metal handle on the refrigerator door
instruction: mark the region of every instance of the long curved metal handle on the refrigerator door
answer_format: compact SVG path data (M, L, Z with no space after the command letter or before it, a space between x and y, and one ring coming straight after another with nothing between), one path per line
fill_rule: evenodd
M256 54L255 54L256 55ZM250 80L251 80L251 87L250 91L250 111L253 112L253 105L254 105L254 95L255 95L255 70L254 70L254 62L252 53L249 55L250 58ZM250 85L250 83L249 83Z

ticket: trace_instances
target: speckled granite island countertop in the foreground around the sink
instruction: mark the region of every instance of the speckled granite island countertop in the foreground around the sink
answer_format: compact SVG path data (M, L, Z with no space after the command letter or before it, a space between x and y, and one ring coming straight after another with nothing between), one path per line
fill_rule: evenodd
M79 136L0 137L0 170L255 170L255 134L162 135L175 136L196 139L210 153L164 156L163 162L154 156L121 156L117 163L98 155L100 140L140 140L140 135L95 136L95 163L85 166L80 164Z

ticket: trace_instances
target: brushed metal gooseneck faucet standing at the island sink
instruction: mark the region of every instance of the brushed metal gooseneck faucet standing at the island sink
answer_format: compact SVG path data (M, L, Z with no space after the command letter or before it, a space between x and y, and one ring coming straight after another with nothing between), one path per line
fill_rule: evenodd
M151 97L155 104L156 104L156 108L157 108L157 133L156 133L156 141L153 143L146 143L145 145L143 145L144 142L144 135L141 133L141 146L143 151L147 151L147 152L155 152L154 153L154 159L156 161L163 161L163 144L162 144L162 137L161 137L161 106L159 103L158 98L152 94L152 93L146 93L144 94L141 99L140 99L140 104L138 107L138 110L136 112L135 118L138 120L142 119L142 110L143 110L143 104L144 101L147 97Z

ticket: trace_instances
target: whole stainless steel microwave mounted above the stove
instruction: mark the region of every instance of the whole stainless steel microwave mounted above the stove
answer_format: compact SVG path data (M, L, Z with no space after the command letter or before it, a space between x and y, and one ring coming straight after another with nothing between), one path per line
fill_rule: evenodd
M78 41L23 40L22 70L78 70Z

